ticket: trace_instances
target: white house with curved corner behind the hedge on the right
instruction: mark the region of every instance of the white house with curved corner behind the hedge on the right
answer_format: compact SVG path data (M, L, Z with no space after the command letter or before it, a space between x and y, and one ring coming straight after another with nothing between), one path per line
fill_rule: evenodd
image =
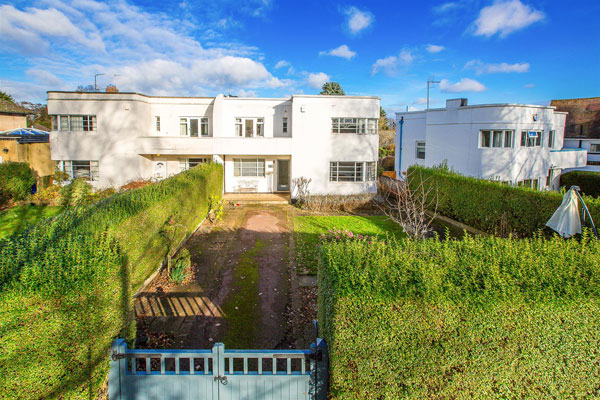
M555 107L467 99L396 113L396 173L446 161L462 175L557 189L562 170L585 166L587 158L586 149L563 145L566 115Z

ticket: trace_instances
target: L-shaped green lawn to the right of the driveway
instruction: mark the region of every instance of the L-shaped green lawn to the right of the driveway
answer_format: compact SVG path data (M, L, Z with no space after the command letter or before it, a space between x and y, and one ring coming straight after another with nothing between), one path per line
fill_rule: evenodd
M296 216L294 217L294 241L298 273L315 275L319 264L319 235L329 230L348 230L356 235L396 238L406 234L400 226L384 216Z

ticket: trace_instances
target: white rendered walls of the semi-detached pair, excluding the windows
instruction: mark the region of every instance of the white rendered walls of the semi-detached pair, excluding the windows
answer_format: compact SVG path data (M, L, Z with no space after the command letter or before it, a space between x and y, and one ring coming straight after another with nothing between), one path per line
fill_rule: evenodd
M302 111L303 110L303 111ZM313 194L374 193L375 182L329 182L331 161L377 161L378 135L331 133L332 117L379 117L379 99L352 96L293 96L291 99L169 98L134 93L48 93L51 115L96 115L95 132L52 132L53 160L98 160L97 188L120 186L153 174L179 172L179 158L212 155L225 160L225 190L233 191L230 156L291 159L291 179L312 179ZM155 117L161 129L156 131ZM181 117L208 117L210 137L179 133ZM236 137L235 118L264 118L264 137ZM288 132L282 129L288 118ZM268 156L268 157L267 157ZM273 168L273 171L275 168ZM231 176L229 176L229 174ZM274 190L263 179L259 191ZM293 184L291 185L293 187Z

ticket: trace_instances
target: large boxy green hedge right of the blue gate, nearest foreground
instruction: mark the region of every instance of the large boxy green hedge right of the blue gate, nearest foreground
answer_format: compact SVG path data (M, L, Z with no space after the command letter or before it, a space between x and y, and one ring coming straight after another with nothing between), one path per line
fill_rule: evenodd
M600 396L600 241L322 247L332 399Z

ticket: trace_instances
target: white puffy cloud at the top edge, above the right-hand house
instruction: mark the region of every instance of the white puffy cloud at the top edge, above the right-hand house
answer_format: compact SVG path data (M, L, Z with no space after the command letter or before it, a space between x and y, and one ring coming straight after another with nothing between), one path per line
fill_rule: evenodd
M499 34L503 38L544 18L543 12L521 3L521 0L496 0L479 12L474 22L474 34L485 37Z

